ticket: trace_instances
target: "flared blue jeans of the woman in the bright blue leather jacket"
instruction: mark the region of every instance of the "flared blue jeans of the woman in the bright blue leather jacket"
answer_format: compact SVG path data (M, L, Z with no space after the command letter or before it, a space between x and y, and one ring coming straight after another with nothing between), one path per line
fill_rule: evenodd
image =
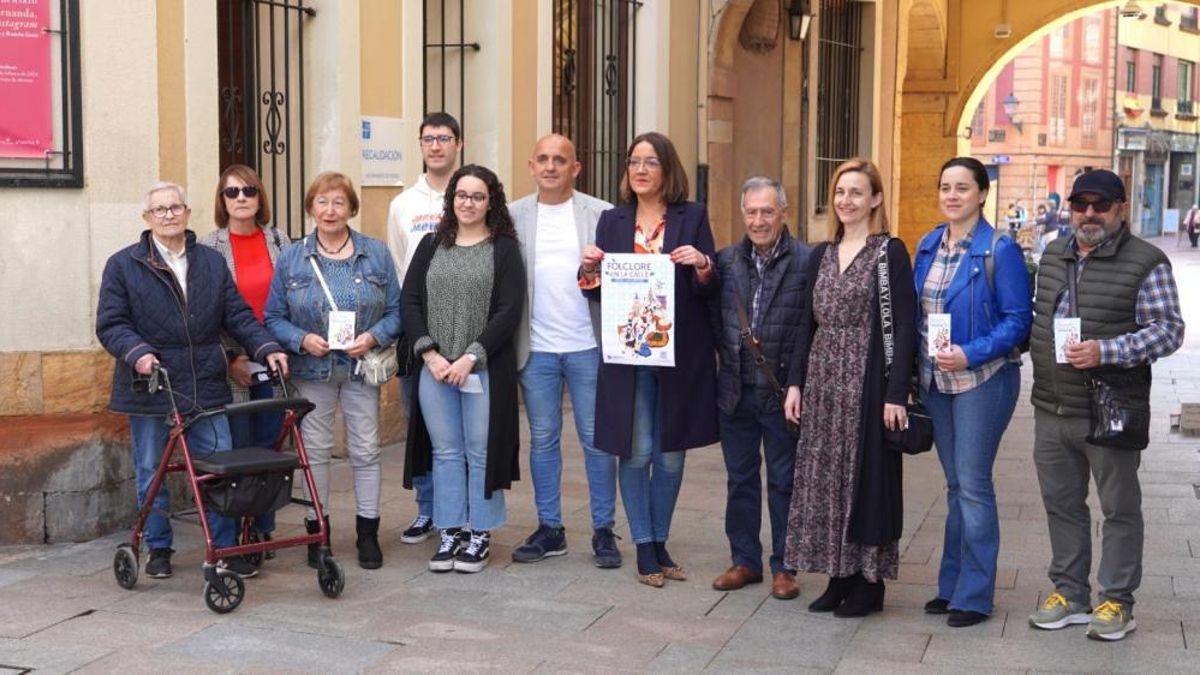
M946 472L946 540L937 597L949 601L950 609L992 610L1000 516L991 467L1020 388L1021 371L1007 364L970 392L942 394L935 386L923 396Z

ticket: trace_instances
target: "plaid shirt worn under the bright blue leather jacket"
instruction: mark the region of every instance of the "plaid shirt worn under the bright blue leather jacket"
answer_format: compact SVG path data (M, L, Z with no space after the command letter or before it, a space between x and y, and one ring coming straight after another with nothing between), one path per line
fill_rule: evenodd
M937 370L932 357L929 356L929 315L946 311L946 292L954 280L959 265L967 257L971 250L971 240L974 231L959 240L952 251L949 246L950 229L946 228L942 243L937 247L937 255L929 267L929 276L925 277L925 286L920 289L920 387L929 389L930 383L937 384L937 390L943 394L962 394L983 384L1009 360L1010 357L995 358L979 368L967 368L954 372ZM952 319L953 323L953 319ZM1020 363L1020 359L1016 359Z

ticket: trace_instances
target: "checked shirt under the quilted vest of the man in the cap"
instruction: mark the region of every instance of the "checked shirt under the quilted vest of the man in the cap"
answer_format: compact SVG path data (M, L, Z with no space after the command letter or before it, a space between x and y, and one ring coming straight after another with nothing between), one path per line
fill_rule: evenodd
M1079 250L1075 240L1070 245ZM1114 246L1115 239L1102 241L1096 250ZM1088 256L1075 264L1075 281L1079 281L1087 267ZM1056 317L1070 316L1070 292L1063 289L1055 306ZM1100 344L1100 365L1133 368L1151 364L1174 353L1183 344L1183 315L1180 310L1180 293L1175 287L1175 276L1168 264L1156 265L1138 288L1138 304L1134 309L1136 333L1126 333Z

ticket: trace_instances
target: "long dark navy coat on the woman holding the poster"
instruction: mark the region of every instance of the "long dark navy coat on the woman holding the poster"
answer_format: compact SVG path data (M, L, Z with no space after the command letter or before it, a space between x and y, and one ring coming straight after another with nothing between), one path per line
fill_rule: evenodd
M606 253L632 253L635 204L623 204L600 215L596 246ZM682 202L667 207L662 252L691 245L713 256L715 244L704 204ZM689 265L676 265L674 368L659 368L659 429L664 452L686 450L718 441L716 357L708 298L720 285L716 275L707 283ZM600 288L583 292L600 300ZM634 368L600 364L596 382L595 446L628 458L634 437Z

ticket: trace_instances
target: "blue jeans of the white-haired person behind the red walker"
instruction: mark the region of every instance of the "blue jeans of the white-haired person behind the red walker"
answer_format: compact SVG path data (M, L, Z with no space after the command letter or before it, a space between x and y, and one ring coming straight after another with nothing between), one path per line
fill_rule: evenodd
M130 416L130 440L133 442L133 474L138 484L138 508L145 503L146 491L150 490L155 472L158 471L169 434L170 425L163 414ZM187 430L187 448L192 456L197 458L233 449L229 422L224 417L212 417L192 425ZM143 539L150 550L170 548L169 515L170 495L167 491L167 483L163 480L158 486L158 494L155 495L154 508L146 516L143 530ZM214 546L234 545L238 525L233 518L209 513L208 521Z

